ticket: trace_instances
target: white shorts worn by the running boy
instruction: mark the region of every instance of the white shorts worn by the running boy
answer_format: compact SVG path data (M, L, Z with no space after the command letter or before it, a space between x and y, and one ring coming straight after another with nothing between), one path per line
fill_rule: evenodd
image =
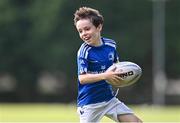
M133 111L116 97L108 102L89 104L78 107L77 112L80 116L80 123L99 122L103 116L119 122L118 115L132 114Z

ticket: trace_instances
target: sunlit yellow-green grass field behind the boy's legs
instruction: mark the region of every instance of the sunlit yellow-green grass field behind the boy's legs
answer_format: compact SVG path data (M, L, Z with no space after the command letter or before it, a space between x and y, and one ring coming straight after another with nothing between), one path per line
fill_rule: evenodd
M144 122L180 122L180 106L129 106ZM0 104L0 122L78 122L75 105ZM112 122L103 118L102 122Z

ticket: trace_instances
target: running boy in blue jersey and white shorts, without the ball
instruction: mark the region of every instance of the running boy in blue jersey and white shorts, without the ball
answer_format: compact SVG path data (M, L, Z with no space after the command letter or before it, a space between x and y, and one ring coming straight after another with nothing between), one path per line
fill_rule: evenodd
M106 71L118 62L115 41L101 37L103 16L98 10L81 7L74 13L74 25L84 41L78 50L78 114L81 123L99 122L107 116L116 122L141 122L130 108L119 101L112 86L119 73Z

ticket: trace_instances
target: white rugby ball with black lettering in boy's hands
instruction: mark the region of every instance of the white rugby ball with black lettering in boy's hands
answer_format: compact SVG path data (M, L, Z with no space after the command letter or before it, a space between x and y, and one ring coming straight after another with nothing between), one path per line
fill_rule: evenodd
M142 75L142 69L139 65L129 61L123 61L113 64L108 70L120 72L118 75L122 78L119 83L108 82L115 87L125 87L136 83Z

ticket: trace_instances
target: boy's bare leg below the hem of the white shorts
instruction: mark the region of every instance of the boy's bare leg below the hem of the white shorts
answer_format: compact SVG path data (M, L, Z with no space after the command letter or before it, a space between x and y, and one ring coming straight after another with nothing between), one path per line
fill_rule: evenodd
M134 114L120 114L118 115L119 122L138 122L142 121Z

